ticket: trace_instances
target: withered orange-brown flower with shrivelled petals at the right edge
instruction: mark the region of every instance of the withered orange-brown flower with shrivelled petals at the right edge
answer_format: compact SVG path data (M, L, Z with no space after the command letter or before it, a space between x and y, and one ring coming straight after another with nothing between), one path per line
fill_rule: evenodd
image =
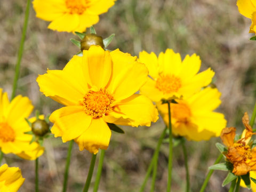
M249 117L247 113L244 114L243 124L245 130L243 131L241 139L234 142L236 128L226 127L221 132L221 140L227 146L228 150L225 153L227 160L233 164L233 173L235 175L245 175L249 171L256 171L256 148L249 145L252 137L252 127L249 125Z

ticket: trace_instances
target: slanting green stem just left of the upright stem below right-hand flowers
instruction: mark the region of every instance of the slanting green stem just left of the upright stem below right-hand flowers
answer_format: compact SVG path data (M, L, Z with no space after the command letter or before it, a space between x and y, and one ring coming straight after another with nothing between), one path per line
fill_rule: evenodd
M161 134L161 136L160 136L160 138L159 138L159 140L158 140L158 142L157 142L156 150L155 150L154 155L153 155L153 158L151 159L151 162L150 162L150 164L149 164L149 166L148 166L148 170L147 170L147 173L146 173L146 177L145 177L145 179L144 179L144 181L143 181L143 183L142 183L142 185L141 185L140 192L144 191L144 189L145 189L145 187L146 187L146 183L147 183L148 178L149 178L149 176L150 176L150 173L151 173L151 171L152 171L152 168L153 168L153 165L154 165L156 156L158 156L160 147L161 147L161 145L162 145L164 136L165 136L165 134L166 134L166 130L167 130L167 129L166 129L166 127L165 127L164 131L162 132L162 134Z

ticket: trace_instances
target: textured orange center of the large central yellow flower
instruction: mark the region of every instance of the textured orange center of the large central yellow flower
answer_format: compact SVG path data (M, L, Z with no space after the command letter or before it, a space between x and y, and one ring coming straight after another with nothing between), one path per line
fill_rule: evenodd
M84 106L87 115L99 118L113 110L111 106L113 102L114 97L107 90L100 89L100 91L89 91L80 103Z

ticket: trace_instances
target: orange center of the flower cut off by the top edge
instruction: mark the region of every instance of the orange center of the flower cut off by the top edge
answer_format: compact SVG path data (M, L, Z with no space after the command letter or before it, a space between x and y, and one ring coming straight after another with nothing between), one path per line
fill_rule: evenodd
M83 14L88 7L89 0L66 0L70 14Z

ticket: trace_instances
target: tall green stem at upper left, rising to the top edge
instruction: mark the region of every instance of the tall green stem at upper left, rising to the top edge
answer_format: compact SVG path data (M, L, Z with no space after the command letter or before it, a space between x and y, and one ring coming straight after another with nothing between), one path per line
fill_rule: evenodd
M13 79L11 100L15 97L17 83L18 83L18 79L19 79L20 62L21 62L22 55L23 55L24 42L25 42L26 32L27 32L27 28L28 28L28 17L29 17L30 4L31 4L31 0L27 0L27 6L26 6L26 11L25 11L25 21L24 21L23 29L22 29L22 36L21 36L20 47L19 47L19 51L18 51L18 59L17 59L16 66L15 66L15 76Z

